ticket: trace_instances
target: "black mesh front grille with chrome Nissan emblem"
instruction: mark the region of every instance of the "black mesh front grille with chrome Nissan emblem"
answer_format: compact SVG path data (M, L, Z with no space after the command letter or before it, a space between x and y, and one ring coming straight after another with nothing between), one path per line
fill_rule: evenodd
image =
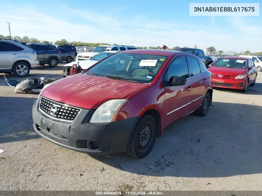
M52 110L51 107L53 107ZM44 97L40 99L39 109L53 118L65 121L75 120L81 110L77 107L55 102Z

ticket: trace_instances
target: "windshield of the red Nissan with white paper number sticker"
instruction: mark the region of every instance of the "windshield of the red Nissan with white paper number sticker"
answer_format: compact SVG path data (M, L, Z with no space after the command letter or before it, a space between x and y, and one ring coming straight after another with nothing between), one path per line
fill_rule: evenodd
M137 53L116 53L87 70L87 75L109 77L138 83L150 83L167 56Z

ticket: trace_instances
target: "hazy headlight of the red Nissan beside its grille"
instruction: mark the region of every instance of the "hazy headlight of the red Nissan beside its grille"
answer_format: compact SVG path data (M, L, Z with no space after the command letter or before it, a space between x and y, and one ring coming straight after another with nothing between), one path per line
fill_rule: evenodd
M95 110L89 122L106 123L115 121L116 115L126 102L128 102L127 99L111 99L102 103Z

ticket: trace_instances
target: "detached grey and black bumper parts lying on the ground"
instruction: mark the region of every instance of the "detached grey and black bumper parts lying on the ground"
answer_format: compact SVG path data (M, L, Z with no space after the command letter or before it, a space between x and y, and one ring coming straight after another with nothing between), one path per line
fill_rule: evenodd
M25 80L22 80L21 82L18 82L16 80L9 80L6 78L6 76L4 77L7 81L7 84L14 88L15 93L40 93L45 85L50 84L53 81L56 81L56 79L47 79L44 81L45 78L41 77L39 79L27 78Z

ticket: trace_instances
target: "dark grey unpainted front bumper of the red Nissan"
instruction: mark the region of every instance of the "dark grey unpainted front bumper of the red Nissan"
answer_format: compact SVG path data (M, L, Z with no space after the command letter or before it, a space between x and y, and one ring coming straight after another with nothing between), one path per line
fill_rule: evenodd
M40 98L33 104L33 128L48 141L70 150L95 155L129 150L139 117L110 123L89 123L94 110L81 109L73 122L65 122L40 111L39 101ZM94 145L97 143L100 146L98 149Z

